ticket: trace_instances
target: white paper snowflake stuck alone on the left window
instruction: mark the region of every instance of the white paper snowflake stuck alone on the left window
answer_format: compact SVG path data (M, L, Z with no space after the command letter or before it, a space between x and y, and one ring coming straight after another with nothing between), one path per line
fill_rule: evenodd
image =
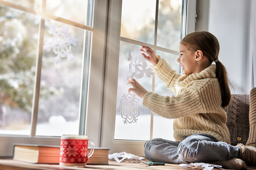
M51 49L53 49L53 52L57 54L56 57L54 57L54 61L56 64L60 63L60 57L66 57L68 62L73 62L73 54L71 54L71 45L76 46L78 40L75 37L71 37L67 34L69 31L69 28L65 25L63 25L61 31L57 31L55 26L50 25L48 32L53 35L50 42L46 42L44 45L44 49L47 50L47 52L50 52Z

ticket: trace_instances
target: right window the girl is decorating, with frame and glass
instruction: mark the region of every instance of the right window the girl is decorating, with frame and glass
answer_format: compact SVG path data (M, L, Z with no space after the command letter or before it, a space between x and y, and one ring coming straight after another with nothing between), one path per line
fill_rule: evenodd
M151 64L140 58L139 48L151 47L180 72L176 62L179 42L190 31L188 28L195 27L195 4L196 1L186 0L123 0L111 4L111 8L116 6L121 10L110 11L114 16L110 22L115 22L108 27L114 31L108 33L107 41L111 50L106 58L102 147L110 148L111 152L125 151L142 156L146 140L158 137L174 140L172 120L142 106L143 99L128 93L131 86L126 82L133 77L148 91L174 95L149 71ZM194 19L190 27L187 15Z

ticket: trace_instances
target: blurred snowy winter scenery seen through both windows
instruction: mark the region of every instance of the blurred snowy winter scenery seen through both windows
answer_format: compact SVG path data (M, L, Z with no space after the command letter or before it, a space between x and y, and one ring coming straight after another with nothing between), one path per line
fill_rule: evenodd
M40 0L8 0L35 10ZM146 3L145 3L146 2ZM154 44L156 0L123 0L121 36ZM85 23L87 1L47 0L47 13ZM70 8L72 6L72 8ZM75 7L76 6L76 7ZM157 46L179 50L182 0L159 0ZM40 18L0 5L0 134L30 135ZM49 26L61 31L63 23L47 20L44 44L51 41ZM78 134L78 113L81 89L84 30L66 25L67 33L78 43L72 45L74 62L67 57L56 64L56 54L43 50L36 135L61 136ZM129 73L129 52L140 46L120 42L118 93L116 103L115 139L148 140L150 111L142 106L137 123L124 124L118 110L123 94L128 93L126 77ZM179 72L177 55L157 51ZM150 68L150 63L148 67ZM137 80L152 91L152 76ZM154 91L160 95L174 95L155 77ZM172 120L154 114L153 138L173 139ZM138 133L134 133L138 131Z

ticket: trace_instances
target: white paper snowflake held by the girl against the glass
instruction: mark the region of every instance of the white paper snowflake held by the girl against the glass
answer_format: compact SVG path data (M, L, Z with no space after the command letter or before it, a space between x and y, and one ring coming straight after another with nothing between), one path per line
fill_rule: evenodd
M144 73L146 73L147 77L154 75L152 68L146 68L148 64L141 54L142 52L140 50L138 53L133 52L133 55L129 52L128 61L131 61L129 64L129 72L131 74L127 76L127 80L134 77L140 79L144 76Z

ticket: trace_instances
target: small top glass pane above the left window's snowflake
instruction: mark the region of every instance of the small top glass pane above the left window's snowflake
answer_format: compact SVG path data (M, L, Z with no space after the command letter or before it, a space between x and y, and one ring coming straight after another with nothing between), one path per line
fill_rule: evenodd
M47 0L46 12L61 18L86 24L88 0Z

